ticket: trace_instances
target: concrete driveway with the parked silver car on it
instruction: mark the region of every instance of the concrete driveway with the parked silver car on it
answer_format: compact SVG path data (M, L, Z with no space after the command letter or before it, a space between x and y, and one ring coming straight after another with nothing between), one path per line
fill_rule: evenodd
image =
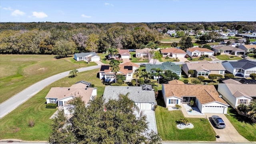
M231 122L228 120L228 118L224 114L212 114L207 113L205 114L210 121L212 128L216 132L216 135L219 135L220 138L216 138L216 142L249 142L246 138L241 136L234 126L231 124ZM216 128L214 122L212 121L212 115L217 115L222 118L222 120L226 124L226 128L220 129Z

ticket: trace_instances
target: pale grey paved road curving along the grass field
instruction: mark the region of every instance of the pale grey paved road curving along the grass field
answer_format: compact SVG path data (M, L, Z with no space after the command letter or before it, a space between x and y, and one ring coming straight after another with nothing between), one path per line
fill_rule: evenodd
M96 68L100 68L100 65L79 68L78 72L84 72L86 70L93 70ZM22 90L18 94L12 96L8 100L6 100L2 104L0 104L0 118L4 117L6 114L12 112L12 110L14 110L18 106L20 106L20 104L26 102L29 98L34 96L36 93L40 92L40 90L42 90L49 84L68 76L69 72L70 71L62 72L60 74L50 76L49 78L41 80L41 81L29 86L28 88Z

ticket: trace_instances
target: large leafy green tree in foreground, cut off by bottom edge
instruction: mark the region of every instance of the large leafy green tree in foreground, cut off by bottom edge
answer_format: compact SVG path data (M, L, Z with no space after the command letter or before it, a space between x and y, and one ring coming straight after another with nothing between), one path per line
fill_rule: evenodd
M71 100L73 116L67 120L60 111L53 120L49 142L52 144L159 144L160 137L148 131L143 112L128 94L104 102L101 96L87 107L81 97ZM136 116L136 113L138 115Z

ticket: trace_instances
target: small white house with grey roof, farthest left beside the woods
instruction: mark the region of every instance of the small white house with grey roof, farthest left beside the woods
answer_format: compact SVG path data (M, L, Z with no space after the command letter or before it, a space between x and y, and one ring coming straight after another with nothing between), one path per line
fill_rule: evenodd
M95 52L82 52L74 54L74 59L76 61L87 61L95 62L100 61L100 56L98 56Z

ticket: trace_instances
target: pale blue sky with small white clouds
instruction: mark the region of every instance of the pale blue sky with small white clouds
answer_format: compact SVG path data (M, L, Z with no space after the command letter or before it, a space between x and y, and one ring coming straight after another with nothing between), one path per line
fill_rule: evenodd
M0 22L255 21L256 0L0 0Z

